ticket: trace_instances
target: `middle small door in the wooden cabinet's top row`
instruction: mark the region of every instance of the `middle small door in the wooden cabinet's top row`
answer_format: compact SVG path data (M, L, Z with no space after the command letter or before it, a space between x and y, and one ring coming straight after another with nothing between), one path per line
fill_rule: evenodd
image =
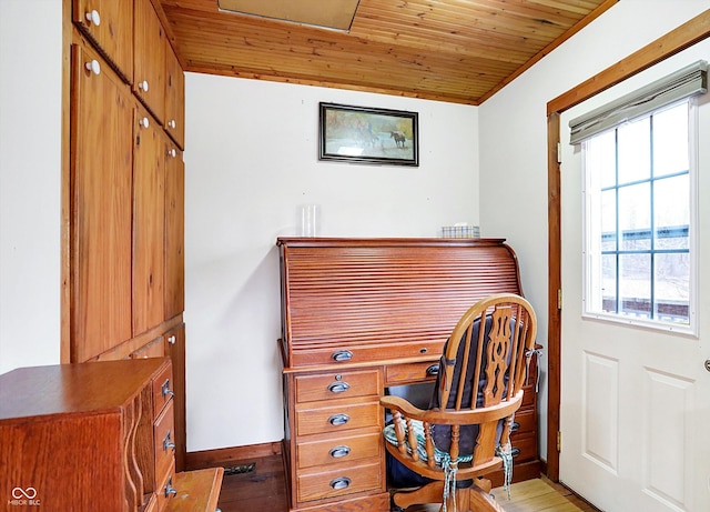
M133 91L163 123L165 120L165 31L150 0L135 0Z

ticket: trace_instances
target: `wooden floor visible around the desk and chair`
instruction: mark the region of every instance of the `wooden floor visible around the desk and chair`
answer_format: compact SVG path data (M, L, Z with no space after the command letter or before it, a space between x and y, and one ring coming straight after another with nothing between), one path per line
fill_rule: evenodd
M255 463L253 471L225 474L219 503L222 512L286 512L288 506L281 455L248 462ZM503 488L494 489L493 494L506 512L599 512L564 485L546 478L513 484L510 500ZM407 512L438 512L438 506L410 506Z

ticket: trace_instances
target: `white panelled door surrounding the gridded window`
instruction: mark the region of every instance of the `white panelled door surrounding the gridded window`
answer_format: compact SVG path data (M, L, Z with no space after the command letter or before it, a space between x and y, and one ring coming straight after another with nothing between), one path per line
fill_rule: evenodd
M604 104L693 59L707 59L709 44L701 44L590 102ZM581 154L567 142L569 120L588 110L589 104L578 106L562 116L560 133L560 481L606 512L708 512L710 94L701 97L698 108L699 337L582 318Z

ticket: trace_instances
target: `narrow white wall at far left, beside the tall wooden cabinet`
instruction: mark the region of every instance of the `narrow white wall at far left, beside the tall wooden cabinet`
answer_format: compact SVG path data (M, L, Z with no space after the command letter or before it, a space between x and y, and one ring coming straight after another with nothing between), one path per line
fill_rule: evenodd
M62 2L1 0L0 373L60 358L61 66Z

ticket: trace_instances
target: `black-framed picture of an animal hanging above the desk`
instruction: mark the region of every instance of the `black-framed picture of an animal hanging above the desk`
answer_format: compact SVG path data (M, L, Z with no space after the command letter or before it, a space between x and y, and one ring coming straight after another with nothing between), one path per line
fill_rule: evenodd
M419 165L418 114L320 103L320 159Z

